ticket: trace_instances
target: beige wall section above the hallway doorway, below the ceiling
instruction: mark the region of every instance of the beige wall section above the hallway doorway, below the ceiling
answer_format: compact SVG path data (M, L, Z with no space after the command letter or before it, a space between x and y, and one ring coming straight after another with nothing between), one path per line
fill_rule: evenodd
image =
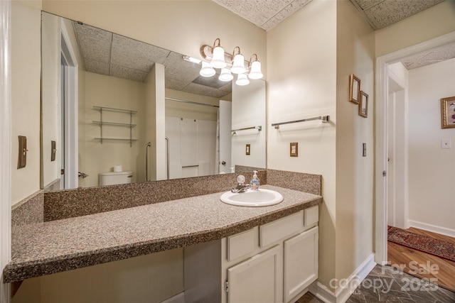
M447 0L375 32L376 57L455 31L455 1Z

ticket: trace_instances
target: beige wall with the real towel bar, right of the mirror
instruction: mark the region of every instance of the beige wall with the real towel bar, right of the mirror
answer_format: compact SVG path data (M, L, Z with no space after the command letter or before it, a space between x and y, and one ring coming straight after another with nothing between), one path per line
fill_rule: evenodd
M315 30L317 28L317 31ZM313 0L267 32L267 168L323 176L319 281L335 277L336 1ZM270 123L330 115L320 121ZM289 157L289 143L299 157Z

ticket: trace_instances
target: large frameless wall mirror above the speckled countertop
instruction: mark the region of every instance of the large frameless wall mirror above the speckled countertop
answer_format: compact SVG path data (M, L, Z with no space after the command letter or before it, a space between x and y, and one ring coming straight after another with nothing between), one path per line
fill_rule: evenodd
M182 54L50 13L41 28L44 189L266 167L264 80L201 77Z

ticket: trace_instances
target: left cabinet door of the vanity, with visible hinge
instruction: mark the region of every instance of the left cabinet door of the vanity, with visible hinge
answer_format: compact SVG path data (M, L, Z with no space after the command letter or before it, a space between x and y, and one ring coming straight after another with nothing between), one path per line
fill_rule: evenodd
M228 303L282 302L282 246L228 268Z

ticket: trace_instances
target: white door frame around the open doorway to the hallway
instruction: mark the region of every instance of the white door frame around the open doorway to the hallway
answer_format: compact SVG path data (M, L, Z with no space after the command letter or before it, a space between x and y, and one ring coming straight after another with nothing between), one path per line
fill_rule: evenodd
M400 61L403 57L432 50L455 42L455 32L441 35L417 45L397 50L376 58L375 71L375 262L387 264L387 100L389 77L388 65Z

